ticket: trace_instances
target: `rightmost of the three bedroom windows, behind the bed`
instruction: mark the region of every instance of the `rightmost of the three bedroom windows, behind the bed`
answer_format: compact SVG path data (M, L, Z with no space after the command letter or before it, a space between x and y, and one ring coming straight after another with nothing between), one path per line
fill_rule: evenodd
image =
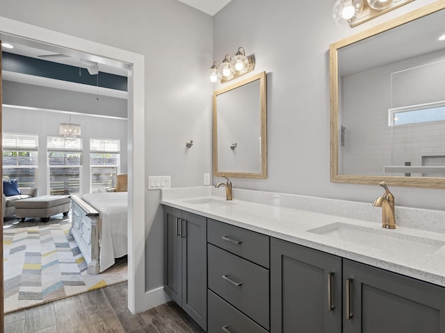
M90 139L91 192L115 187L120 169L120 140Z

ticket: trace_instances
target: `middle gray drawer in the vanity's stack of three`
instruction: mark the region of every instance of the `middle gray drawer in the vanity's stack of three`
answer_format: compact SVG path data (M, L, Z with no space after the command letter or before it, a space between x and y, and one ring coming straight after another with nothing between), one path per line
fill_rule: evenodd
M207 244L209 289L269 329L269 271Z

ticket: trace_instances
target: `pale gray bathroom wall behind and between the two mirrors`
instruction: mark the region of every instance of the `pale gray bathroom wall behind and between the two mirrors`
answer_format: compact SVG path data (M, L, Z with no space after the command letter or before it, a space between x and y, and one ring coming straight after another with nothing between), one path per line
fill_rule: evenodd
M378 186L330 182L329 45L434 1L355 28L334 24L334 2L232 0L215 15L214 60L243 46L254 53L254 72L268 72L268 179L234 179L234 187L367 203L381 194ZM396 205L444 210L443 189L391 191Z

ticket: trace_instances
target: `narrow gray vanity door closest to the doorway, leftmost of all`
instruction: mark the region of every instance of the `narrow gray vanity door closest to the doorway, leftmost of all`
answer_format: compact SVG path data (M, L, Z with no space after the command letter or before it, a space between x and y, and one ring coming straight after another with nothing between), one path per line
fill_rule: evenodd
M165 212L165 271L164 290L178 305L181 305L181 236L180 210L164 206Z

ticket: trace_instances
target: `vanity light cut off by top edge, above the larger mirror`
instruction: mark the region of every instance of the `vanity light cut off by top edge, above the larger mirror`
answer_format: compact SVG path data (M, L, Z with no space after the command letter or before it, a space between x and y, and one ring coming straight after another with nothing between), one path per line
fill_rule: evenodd
M332 8L336 24L351 28L394 10L414 0L337 0Z

